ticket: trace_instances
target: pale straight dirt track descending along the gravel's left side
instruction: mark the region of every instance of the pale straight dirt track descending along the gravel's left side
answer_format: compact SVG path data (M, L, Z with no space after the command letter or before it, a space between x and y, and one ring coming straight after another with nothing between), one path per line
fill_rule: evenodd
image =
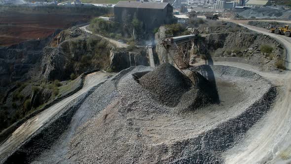
M37 114L35 117L29 119L18 127L12 135L0 145L0 163L7 157L13 150L16 150L24 141L26 141L33 133L36 132L42 125L47 123L50 119L56 116L62 109L64 109L70 102L76 99L81 94L89 91L93 86L107 79L108 76L114 75L113 73L95 72L89 74L85 78L82 89L74 93L72 96L63 99L50 108Z

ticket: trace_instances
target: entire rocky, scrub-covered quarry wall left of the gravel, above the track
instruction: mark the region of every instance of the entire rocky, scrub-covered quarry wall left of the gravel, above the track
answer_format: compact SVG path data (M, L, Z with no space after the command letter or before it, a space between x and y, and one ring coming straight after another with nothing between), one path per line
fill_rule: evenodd
M95 69L119 72L148 63L143 48L119 49L75 27L54 39L0 48L0 130L73 89L60 87L59 81Z

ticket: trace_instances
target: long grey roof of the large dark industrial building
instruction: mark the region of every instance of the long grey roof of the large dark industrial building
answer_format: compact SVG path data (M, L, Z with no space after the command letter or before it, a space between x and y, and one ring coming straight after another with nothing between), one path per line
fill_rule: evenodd
M168 4L164 2L119 1L114 7L164 9Z

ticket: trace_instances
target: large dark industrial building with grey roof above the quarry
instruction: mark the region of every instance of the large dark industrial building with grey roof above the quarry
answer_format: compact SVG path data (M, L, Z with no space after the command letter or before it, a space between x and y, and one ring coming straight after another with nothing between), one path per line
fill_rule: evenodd
M173 23L173 7L164 2L119 1L114 6L114 20L131 22L136 16L143 23L144 30L152 30L163 24Z

